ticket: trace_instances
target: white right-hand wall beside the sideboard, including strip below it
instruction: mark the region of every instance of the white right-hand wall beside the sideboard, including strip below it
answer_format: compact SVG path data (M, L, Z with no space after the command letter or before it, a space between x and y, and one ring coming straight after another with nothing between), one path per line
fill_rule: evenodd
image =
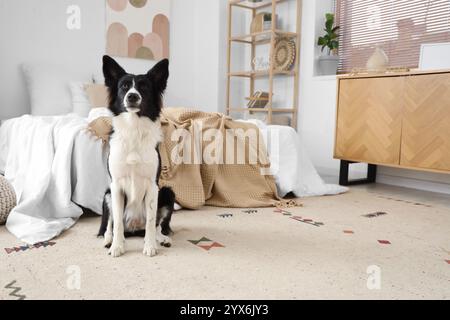
M298 123L300 136L318 171L337 176L339 161L333 159L336 77L315 76L314 72L320 53L315 45L316 37L322 32L323 17L332 9L332 1L303 0ZM361 174L356 172L358 176ZM450 175L380 167L377 179L382 183L450 194Z

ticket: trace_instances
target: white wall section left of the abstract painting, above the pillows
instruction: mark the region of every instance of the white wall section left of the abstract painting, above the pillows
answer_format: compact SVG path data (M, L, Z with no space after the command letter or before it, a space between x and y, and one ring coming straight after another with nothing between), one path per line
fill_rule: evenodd
M81 31L66 28L71 4L82 8ZM95 70L104 48L103 18L100 1L0 0L0 118L29 112L21 63L55 61Z

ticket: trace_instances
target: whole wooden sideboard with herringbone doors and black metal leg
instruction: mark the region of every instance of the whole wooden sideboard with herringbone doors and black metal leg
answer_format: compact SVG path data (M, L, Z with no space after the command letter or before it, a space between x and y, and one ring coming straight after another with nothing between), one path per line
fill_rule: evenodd
M376 165L450 173L450 70L338 77L334 157L343 185ZM369 165L348 180L348 166Z

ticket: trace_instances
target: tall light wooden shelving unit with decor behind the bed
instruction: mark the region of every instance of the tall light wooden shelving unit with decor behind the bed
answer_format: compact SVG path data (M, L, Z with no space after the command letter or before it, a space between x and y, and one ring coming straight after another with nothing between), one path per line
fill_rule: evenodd
M256 14L260 12L261 9L271 8L272 17L277 15L277 5L282 2L293 1L296 2L296 32L289 32L284 30L279 30L276 28L276 21L272 18L272 25L270 30L265 30L262 32L249 33L244 35L232 35L232 22L233 22L233 9L245 9L251 10L252 19L256 17ZM298 86L299 86L299 65L300 65L300 29L301 29L301 7L302 0L263 0L263 2L252 3L247 0L229 0L228 1L228 78L227 78L227 114L231 112L263 112L267 113L267 123L271 124L273 120L273 113L288 113L291 114L291 126L297 128L297 115L298 115ZM264 36L263 39L261 37ZM275 54L275 44L278 38L294 38L296 42L296 53L295 53L295 64L290 71L280 71L275 69L274 65L274 54ZM231 61L232 61L232 50L231 46L233 43L241 43L251 46L251 60L255 59L256 46L269 44L269 69L268 70L246 70L246 71L232 71ZM291 76L294 77L294 88L293 88L293 105L292 108L274 108L273 105L273 88L274 88L274 78L275 76ZM264 100L268 101L265 108L243 108L232 107L231 106L231 79L233 77L248 78L250 80L250 92L247 100ZM255 93L255 80L257 78L267 78L269 81L269 91L268 98L251 98Z

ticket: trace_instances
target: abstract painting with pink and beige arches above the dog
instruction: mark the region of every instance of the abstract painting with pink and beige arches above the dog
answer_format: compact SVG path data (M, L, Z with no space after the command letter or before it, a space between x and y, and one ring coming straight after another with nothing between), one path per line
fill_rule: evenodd
M169 58L171 0L107 0L106 53L148 60Z

